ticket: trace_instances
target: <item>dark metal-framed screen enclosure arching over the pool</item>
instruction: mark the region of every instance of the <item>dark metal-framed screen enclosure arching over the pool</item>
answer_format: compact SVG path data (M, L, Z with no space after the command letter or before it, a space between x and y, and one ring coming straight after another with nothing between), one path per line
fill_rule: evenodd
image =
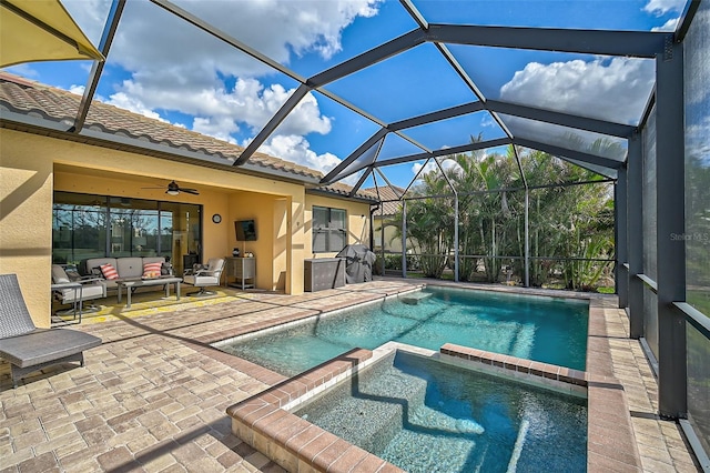
M317 169L378 201L381 274L615 292L707 461L709 1L64 3L105 61L53 132L124 143L99 100Z

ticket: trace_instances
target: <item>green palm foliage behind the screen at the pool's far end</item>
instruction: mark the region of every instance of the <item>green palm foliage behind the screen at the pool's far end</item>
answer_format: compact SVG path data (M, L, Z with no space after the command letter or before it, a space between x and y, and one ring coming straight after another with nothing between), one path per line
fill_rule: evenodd
M602 180L540 151L453 154L420 175L407 195L417 198L406 202L395 221L406 213L408 246L419 255L424 275L442 278L447 265L453 266L454 189L459 279L498 282L510 273L523 275L527 184L530 284L556 281L588 290L610 271L609 262L598 260L613 258L611 185L594 183Z

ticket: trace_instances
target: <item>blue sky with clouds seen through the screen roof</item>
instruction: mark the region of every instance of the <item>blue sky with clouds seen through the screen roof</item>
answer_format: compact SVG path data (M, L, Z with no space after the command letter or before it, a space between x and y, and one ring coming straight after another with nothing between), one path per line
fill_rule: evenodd
M94 44L110 1L62 0ZM398 1L175 1L304 78L415 29ZM684 0L414 0L433 23L608 30L673 30ZM653 81L653 62L628 58L452 46L486 98L635 123ZM326 87L384 122L476 100L432 44L408 50ZM81 93L89 61L36 62L10 72ZM298 82L144 1L126 3L97 98L146 117L246 145ZM510 129L526 130L523 122ZM327 173L379 128L314 91L260 151ZM517 130L514 130L517 131ZM487 113L422 127L407 134L428 149L498 138ZM387 138L383 153L420 152ZM406 187L422 163L387 172ZM349 181L353 182L352 180Z

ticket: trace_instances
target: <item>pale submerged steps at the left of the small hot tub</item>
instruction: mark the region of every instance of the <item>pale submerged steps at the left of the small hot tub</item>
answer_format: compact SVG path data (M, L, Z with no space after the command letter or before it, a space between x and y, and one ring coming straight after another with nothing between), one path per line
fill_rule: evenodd
M318 409L306 405L294 414L377 454L425 394L425 380L395 372L392 363L383 362L318 397Z

